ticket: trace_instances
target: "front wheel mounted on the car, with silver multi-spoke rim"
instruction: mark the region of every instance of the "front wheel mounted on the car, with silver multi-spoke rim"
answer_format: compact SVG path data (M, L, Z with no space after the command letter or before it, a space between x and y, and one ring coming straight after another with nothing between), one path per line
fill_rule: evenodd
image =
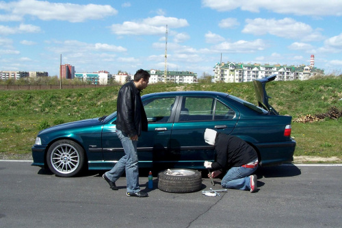
M58 140L47 151L47 165L59 177L73 177L83 169L84 150L71 140Z

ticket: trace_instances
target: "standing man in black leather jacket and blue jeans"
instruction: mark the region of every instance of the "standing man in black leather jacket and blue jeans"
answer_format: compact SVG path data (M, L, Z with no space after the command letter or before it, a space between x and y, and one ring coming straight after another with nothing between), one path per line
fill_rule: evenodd
M103 174L112 190L118 190L115 181L126 172L127 197L148 197L140 191L137 158L137 140L141 131L147 131L147 118L140 92L147 87L150 74L140 69L134 80L124 84L118 93L116 134L124 148L124 156Z

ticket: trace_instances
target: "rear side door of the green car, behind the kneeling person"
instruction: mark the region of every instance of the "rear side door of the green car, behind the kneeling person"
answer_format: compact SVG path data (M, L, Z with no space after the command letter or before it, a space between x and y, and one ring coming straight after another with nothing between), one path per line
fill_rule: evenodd
M205 129L230 134L238 118L238 110L218 97L180 97L170 140L170 148L179 153L179 164L202 168L205 160L213 160L213 147L204 140Z

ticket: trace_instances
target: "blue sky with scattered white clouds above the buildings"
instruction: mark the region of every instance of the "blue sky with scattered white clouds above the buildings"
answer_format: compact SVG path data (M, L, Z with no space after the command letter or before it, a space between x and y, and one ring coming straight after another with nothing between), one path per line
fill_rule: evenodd
M341 74L342 1L0 1L0 71L168 70L310 64Z

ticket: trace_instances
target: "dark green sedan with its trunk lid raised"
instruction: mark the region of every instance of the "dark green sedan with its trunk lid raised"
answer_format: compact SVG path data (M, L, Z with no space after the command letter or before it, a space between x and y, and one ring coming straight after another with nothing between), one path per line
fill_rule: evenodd
M215 151L205 142L206 128L237 136L254 147L261 166L293 161L291 116L269 105L265 84L276 75L253 81L258 105L222 92L158 92L142 97L148 131L137 144L140 168L204 169ZM124 155L116 135L116 112L49 127L31 149L33 166L60 177L81 170L109 170Z

